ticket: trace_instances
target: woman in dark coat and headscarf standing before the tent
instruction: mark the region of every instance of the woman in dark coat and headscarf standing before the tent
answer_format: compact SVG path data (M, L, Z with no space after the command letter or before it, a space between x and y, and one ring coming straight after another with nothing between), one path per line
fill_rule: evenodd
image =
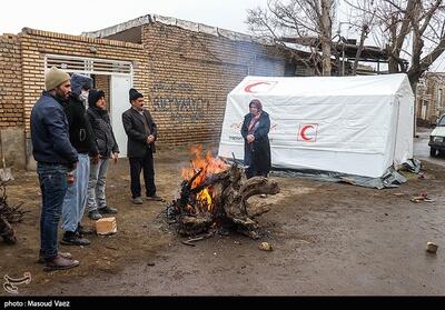
M249 113L244 117L241 134L244 138L244 163L248 166L246 177L267 177L270 171L269 114L263 111L258 99L249 103Z

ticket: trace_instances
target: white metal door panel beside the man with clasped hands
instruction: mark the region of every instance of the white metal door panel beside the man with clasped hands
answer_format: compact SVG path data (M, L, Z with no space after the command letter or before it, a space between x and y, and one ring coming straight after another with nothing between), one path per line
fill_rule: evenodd
M131 77L112 74L110 88L111 126L119 146L119 157L127 157L127 134L123 130L122 113L130 108L128 91L131 88Z

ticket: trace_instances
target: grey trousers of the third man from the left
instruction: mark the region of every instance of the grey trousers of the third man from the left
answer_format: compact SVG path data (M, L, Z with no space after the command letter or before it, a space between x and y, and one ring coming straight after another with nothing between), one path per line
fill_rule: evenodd
M98 208L107 207L105 198L105 184L107 182L108 163L110 160L99 159L97 164L91 164L90 180L88 182L88 211L97 210Z

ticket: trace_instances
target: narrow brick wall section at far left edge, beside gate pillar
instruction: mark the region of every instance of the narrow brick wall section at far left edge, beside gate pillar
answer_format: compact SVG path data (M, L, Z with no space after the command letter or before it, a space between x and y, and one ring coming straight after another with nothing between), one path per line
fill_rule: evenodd
M21 53L18 36L0 36L0 129L23 127Z

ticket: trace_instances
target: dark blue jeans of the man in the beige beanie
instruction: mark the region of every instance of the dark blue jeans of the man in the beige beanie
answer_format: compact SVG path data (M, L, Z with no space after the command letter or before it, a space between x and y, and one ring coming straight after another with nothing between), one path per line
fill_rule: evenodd
M62 212L63 198L67 193L68 168L62 164L38 162L42 210L40 216L40 249L47 260L58 254L57 230Z

